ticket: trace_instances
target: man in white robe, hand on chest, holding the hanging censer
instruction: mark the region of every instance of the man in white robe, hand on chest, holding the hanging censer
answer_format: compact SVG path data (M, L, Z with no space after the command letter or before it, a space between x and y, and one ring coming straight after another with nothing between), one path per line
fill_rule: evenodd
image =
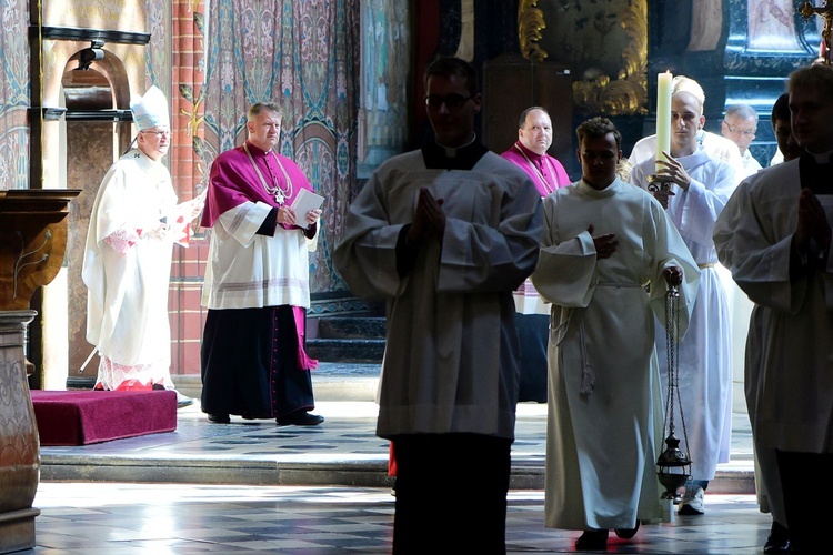
M594 118L576 134L582 179L544 199L532 274L552 303L544 522L584 531L578 549L603 551L609 529L630 538L661 516L654 314L679 285L685 333L700 271L660 203L618 176L613 123Z

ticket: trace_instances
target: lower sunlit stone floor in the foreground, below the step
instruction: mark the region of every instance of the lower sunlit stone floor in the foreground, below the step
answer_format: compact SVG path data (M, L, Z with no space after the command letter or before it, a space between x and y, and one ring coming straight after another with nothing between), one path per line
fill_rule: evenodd
M44 482L34 501L29 553L42 555L382 554L394 511L390 488L348 486ZM580 533L545 528L543 503L540 490L510 492L510 555L574 552ZM628 542L612 535L604 553L753 555L769 526L754 496L710 494L704 515L642 526Z

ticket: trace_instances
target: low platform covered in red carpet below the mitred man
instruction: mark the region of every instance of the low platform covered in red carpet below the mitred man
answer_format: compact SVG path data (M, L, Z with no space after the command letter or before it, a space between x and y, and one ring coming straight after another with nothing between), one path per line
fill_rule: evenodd
M177 430L173 391L32 390L41 445L89 445Z

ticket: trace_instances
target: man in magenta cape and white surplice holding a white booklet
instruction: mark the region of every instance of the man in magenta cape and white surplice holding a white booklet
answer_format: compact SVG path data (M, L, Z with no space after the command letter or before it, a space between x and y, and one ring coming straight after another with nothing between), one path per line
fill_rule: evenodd
M324 421L310 412L318 361L304 351L308 253L315 250L321 209L294 208L302 191L313 191L301 169L274 151L281 119L278 104L253 104L248 140L211 165L201 222L212 229L201 375L202 412L218 424L231 415L275 418L279 426Z

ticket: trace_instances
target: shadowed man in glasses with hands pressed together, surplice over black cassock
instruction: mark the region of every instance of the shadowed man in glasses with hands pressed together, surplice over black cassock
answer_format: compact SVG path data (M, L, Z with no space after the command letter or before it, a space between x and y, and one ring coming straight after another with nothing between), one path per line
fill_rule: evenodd
M333 261L353 294L387 302L377 434L395 453L393 553L505 553L512 292L535 268L541 196L475 135L482 98L470 63L440 58L424 83L435 141L379 167Z

